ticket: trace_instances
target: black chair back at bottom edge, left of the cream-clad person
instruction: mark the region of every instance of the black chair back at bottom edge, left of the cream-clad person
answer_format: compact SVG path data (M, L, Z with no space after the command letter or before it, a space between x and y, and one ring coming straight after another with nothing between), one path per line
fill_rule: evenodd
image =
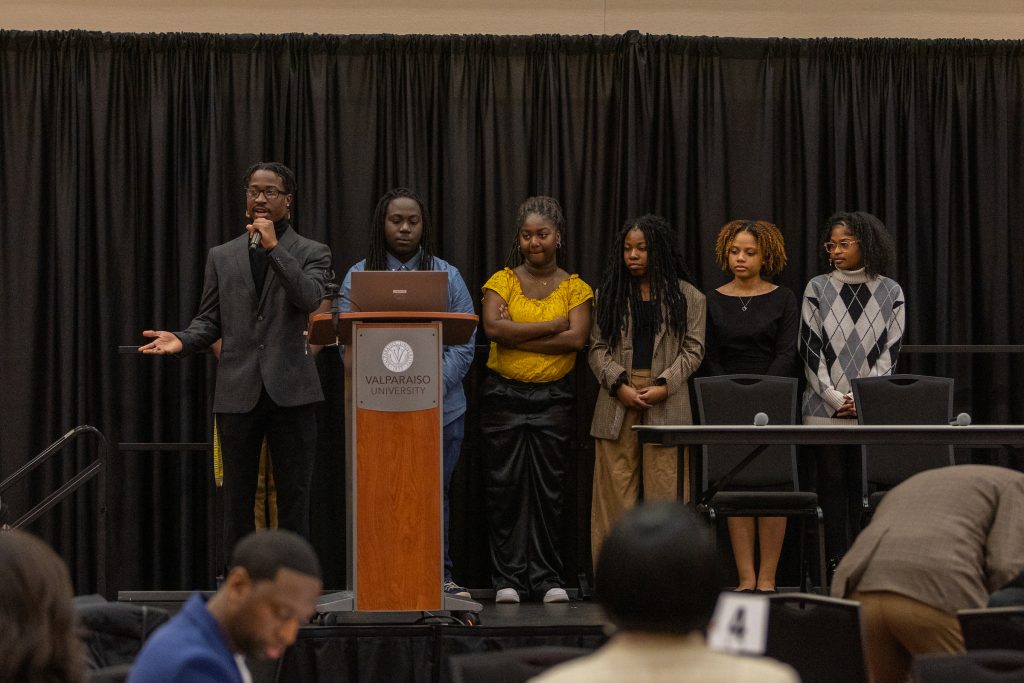
M593 651L583 647L520 647L453 654L449 661L455 683L525 683L555 665Z

